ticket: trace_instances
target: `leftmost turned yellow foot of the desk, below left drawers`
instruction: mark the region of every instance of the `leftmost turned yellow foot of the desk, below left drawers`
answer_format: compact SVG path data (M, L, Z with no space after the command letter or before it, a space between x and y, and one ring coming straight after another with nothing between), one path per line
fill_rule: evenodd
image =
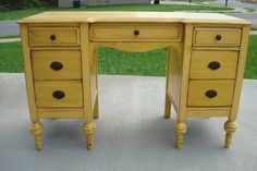
M35 137L35 147L37 150L41 150L42 149L42 124L38 121L38 122L33 122L32 126L30 126L30 133L34 135Z

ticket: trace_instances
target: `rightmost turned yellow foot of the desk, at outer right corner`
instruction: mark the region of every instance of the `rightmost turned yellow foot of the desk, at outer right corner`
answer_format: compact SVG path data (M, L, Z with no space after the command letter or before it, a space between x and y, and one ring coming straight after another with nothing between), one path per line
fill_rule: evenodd
M224 147L229 148L232 143L232 135L235 132L237 127L236 121L227 121L224 123L224 131L225 131L225 141L224 141Z

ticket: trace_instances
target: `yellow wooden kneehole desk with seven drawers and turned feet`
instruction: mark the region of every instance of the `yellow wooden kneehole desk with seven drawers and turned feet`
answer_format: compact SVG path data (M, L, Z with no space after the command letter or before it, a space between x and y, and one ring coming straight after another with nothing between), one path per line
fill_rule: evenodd
M168 49L164 117L178 113L175 147L185 118L225 117L224 146L236 130L250 23L208 13L46 12L21 20L30 132L42 148L39 119L85 120L87 148L99 117L96 50Z

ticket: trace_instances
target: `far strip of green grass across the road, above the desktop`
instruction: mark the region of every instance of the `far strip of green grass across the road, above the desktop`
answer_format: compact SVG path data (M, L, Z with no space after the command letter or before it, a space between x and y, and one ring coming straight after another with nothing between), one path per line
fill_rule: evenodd
M19 20L25 16L37 14L45 11L228 11L233 10L227 7L210 7L210 5L184 5L184 4L119 4L105 7L87 7L81 9L73 8L54 8L54 9L25 9L8 12L0 12L0 21Z

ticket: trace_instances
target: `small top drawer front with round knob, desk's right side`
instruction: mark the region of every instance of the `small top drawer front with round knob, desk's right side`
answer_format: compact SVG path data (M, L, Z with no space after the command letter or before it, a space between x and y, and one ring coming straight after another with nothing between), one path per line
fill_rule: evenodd
M241 28L195 28L194 46L240 46Z

